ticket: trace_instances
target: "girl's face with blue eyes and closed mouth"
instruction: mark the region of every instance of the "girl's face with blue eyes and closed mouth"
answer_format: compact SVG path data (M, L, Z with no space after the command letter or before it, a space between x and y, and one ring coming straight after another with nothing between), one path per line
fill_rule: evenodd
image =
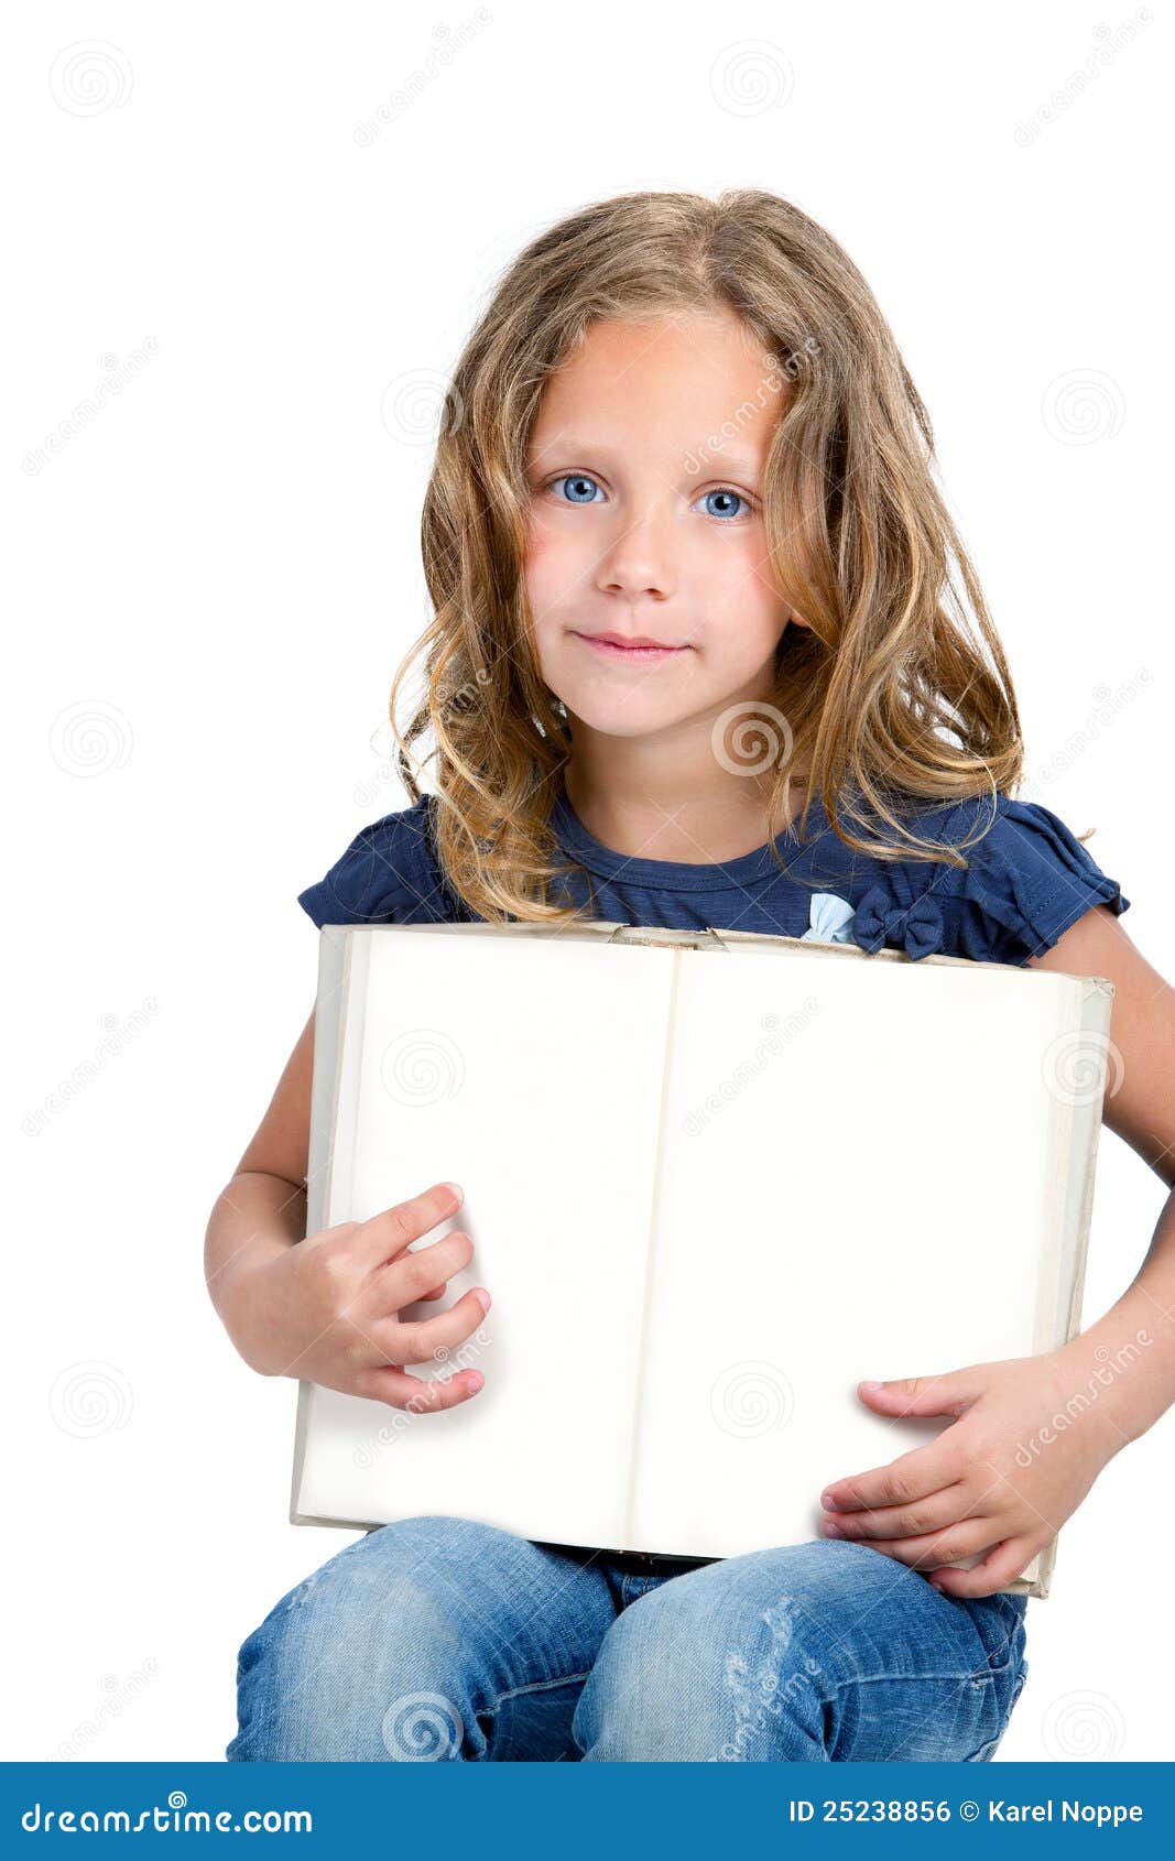
M762 469L786 393L734 315L598 322L547 382L527 475L525 579L544 683L605 735L709 728L775 687L790 616ZM678 648L624 655L615 633Z

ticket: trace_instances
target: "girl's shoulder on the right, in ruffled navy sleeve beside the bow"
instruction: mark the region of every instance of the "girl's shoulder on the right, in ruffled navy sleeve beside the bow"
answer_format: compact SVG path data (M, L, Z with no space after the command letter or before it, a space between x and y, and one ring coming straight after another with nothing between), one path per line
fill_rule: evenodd
M862 949L1026 964L1095 904L1115 916L1130 906L1121 884L1041 802L981 795L914 821L920 839L955 849L966 867L933 858L868 862L853 917Z

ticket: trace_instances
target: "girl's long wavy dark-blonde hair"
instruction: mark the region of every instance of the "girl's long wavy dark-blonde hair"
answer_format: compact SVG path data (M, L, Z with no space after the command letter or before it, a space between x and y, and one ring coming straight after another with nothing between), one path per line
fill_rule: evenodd
M771 778L771 839L804 769L801 837L819 795L847 847L966 865L911 830L918 806L991 795L994 808L1022 780L1011 674L933 478L931 422L857 266L777 194L622 194L560 220L506 270L452 374L425 497L434 618L395 674L397 765L419 800L426 759L410 746L432 733L443 875L492 923L583 916L555 899L568 865L549 811L572 731L538 670L525 590L544 383L600 318L719 309L788 378L762 502L773 571L806 627L786 627L777 651L771 707L790 756ZM425 696L400 733L421 655Z

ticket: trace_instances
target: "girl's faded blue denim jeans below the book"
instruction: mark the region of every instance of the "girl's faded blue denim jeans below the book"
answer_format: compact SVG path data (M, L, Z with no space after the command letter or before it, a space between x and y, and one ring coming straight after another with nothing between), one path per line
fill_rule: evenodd
M1026 1606L834 1539L633 1576L402 1519L248 1636L225 1757L978 1764L1028 1673Z

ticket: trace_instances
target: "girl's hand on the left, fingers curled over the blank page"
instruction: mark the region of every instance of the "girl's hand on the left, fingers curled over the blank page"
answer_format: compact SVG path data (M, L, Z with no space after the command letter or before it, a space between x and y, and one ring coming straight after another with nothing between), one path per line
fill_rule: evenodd
M477 1370L426 1381L402 1364L426 1364L434 1351L464 1344L482 1323L490 1293L471 1288L436 1318L400 1323L400 1310L439 1297L469 1264L473 1239L456 1230L408 1251L462 1206L460 1193L434 1184L371 1221L344 1221L298 1241L250 1277L240 1355L270 1377L304 1377L393 1409L452 1409L482 1386Z

